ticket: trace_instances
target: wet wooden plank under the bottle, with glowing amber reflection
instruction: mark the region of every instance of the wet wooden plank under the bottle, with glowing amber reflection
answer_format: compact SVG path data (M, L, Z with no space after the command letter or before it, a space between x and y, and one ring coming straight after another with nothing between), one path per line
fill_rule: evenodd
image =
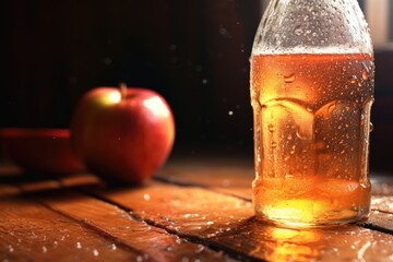
M151 183L95 192L133 216L240 260L390 261L393 236L348 225L283 229L253 218L249 201L195 187ZM376 259L377 258L377 259Z

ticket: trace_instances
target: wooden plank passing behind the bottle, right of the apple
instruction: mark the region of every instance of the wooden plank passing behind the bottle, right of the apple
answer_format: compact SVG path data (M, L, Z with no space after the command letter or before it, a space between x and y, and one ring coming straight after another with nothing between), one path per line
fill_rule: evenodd
M393 195L393 178L386 174L372 174L372 194ZM169 163L158 175L158 179L164 182L176 184L198 186L209 188L216 192L236 195L245 200L251 200L251 182L253 179L252 163L245 159L229 159L222 162L180 162ZM393 199L383 201L384 209L377 202L381 201L373 198L369 221L362 225L367 228L374 228L384 233L393 231L392 217ZM390 205L390 209L386 209ZM384 212L378 214L378 211Z

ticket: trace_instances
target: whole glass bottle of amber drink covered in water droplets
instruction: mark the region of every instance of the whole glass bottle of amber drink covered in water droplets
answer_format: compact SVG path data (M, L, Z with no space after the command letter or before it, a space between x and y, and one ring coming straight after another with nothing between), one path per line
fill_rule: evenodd
M374 64L357 0L271 0L250 62L255 215L366 219Z

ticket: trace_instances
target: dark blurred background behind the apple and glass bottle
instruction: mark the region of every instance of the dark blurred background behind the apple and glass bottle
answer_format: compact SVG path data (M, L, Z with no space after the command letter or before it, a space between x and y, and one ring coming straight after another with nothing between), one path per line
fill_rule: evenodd
M96 86L143 86L170 104L175 151L252 155L249 57L260 1L2 0L0 128L68 128ZM376 50L371 169L392 170L390 51Z

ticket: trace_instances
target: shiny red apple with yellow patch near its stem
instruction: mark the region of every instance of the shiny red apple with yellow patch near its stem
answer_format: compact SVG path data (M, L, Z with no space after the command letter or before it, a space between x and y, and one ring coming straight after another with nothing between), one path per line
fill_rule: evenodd
M146 88L96 87L82 97L71 122L76 155L108 181L148 179L167 159L174 139L170 107Z

